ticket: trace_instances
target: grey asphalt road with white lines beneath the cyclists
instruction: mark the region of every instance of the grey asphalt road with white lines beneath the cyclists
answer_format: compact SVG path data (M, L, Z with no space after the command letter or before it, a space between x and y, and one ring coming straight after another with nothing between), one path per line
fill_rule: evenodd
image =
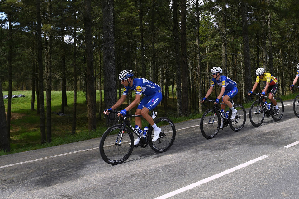
M102 160L100 138L0 156L0 198L297 199L299 118L291 104L284 101L279 122L254 127L247 115L240 132L226 127L210 140L191 127L199 119L176 123L167 152L134 148L115 166Z

